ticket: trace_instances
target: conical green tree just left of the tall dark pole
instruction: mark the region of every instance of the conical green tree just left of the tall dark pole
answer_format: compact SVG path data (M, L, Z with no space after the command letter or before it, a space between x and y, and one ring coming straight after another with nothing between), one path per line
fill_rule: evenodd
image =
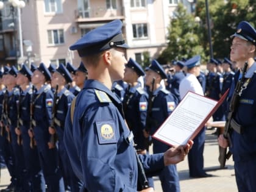
M194 20L193 15L187 13L182 4L179 4L168 27L168 46L158 60L170 63L172 60L190 58L197 54L204 57L200 34L199 23Z

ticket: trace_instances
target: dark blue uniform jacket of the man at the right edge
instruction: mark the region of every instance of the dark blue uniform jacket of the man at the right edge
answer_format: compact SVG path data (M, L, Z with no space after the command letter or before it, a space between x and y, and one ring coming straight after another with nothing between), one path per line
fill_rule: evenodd
M235 84L239 74L240 71L234 76ZM230 151L235 161L250 158L256 154L256 63L248 69L245 77L251 77L251 80L241 94L234 115L236 123L243 126L244 133L239 134L233 130L231 135L233 146Z

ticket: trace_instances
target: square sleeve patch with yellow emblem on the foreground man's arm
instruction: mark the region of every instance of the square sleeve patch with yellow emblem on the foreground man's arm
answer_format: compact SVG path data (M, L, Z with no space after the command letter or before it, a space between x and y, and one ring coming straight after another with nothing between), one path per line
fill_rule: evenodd
M116 126L113 120L96 122L99 144L116 143Z

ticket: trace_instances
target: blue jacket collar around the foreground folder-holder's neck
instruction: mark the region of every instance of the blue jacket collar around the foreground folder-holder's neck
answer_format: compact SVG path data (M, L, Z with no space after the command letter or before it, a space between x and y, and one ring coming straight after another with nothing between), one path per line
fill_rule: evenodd
M105 87L105 85L103 85L98 80L93 80L93 79L86 80L85 84L84 84L84 88L85 89L87 89L87 88L94 88L94 89L97 89L97 90L100 90L100 91L104 91L105 93L108 94L108 96L111 99L114 99L118 104L121 104L120 99L118 99L111 90L109 90L107 87Z

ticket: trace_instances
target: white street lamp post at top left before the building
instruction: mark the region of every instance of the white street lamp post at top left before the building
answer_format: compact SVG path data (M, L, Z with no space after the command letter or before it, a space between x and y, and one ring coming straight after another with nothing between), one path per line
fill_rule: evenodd
M26 6L25 2L22 0L9 0L6 1L7 4L10 6L10 14L5 17L9 17L12 15L13 21L13 39L16 51L16 62L18 63L18 53L17 53L17 46L16 46L16 38L15 38L15 8L17 9L17 18L18 18L18 34L19 34L19 44L20 44L20 57L23 58L23 38L22 38L22 29L21 29L21 9ZM5 3L0 1L0 10L2 10L5 6Z

